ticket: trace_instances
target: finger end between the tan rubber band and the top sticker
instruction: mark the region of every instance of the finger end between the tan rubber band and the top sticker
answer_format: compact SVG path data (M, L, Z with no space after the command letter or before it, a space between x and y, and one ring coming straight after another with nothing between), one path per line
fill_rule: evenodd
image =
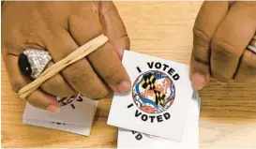
M92 66L115 92L126 93L130 89L130 80L125 67L108 42L88 56Z

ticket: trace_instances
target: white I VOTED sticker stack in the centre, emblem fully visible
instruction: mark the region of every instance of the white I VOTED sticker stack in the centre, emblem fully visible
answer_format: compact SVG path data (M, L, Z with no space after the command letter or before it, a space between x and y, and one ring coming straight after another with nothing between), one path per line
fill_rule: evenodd
M119 127L118 148L198 149L201 99L189 67L136 52L125 52L123 65L132 89L114 95L108 119Z

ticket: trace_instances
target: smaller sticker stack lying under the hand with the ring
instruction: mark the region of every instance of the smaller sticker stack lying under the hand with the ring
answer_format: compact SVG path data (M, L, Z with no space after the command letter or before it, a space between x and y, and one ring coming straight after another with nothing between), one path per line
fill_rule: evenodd
M23 112L23 124L89 136L98 101L80 95L57 99L60 104L59 113L39 110L27 103Z

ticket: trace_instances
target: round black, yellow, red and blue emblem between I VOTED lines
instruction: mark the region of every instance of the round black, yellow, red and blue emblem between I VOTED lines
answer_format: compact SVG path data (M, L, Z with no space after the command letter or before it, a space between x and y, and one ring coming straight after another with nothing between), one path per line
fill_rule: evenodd
M173 104L174 83L161 71L146 71L133 83L132 97L137 107L143 112L165 112Z

